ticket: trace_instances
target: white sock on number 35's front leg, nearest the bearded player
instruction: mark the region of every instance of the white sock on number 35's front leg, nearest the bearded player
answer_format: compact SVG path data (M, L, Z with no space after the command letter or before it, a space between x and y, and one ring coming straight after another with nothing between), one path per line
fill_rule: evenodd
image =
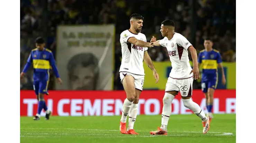
M172 100L175 98L175 96L166 93L164 94L163 98L163 111L162 111L162 123L161 123L161 129L166 131L167 130L167 124L169 121L169 117L172 113Z

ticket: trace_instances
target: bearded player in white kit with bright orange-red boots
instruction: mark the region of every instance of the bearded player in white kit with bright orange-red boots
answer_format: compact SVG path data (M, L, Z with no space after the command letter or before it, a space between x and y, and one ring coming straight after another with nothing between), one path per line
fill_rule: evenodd
M140 33L142 26L143 17L139 14L132 14L130 16L130 29L120 34L122 62L119 72L127 97L124 101L120 120L120 132L122 134L138 134L133 127L138 113L139 95L144 84L143 60L152 69L156 83L159 79L152 60L147 53L147 47L153 47L153 43L146 42L146 36ZM126 130L127 115L129 115L129 123Z

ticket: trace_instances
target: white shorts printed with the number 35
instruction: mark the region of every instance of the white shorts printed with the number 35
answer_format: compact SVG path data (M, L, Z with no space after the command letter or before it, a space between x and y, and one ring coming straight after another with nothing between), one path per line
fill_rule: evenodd
M181 96L191 97L192 96L192 87L193 87L193 77L185 79L175 79L168 77L165 92L166 91L180 91Z

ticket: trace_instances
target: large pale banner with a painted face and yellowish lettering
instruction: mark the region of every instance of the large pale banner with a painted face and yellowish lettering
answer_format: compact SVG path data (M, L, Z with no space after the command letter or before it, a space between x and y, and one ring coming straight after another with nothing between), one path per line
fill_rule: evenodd
M57 90L112 90L115 25L58 26Z

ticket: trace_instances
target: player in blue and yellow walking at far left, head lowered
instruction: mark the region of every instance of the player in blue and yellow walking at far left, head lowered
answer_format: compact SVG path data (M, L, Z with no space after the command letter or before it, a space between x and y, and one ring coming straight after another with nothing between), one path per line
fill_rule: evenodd
M49 84L49 70L52 68L54 75L57 78L57 82L62 84L58 69L55 65L55 60L52 51L45 48L45 40L42 37L38 37L35 41L36 48L30 52L27 63L20 74L20 79L25 76L29 67L33 64L34 68L34 90L38 99L37 114L33 118L34 120L40 119L40 113L42 109L45 110L45 120L49 120L51 111L47 109L44 95L48 95L48 84Z

